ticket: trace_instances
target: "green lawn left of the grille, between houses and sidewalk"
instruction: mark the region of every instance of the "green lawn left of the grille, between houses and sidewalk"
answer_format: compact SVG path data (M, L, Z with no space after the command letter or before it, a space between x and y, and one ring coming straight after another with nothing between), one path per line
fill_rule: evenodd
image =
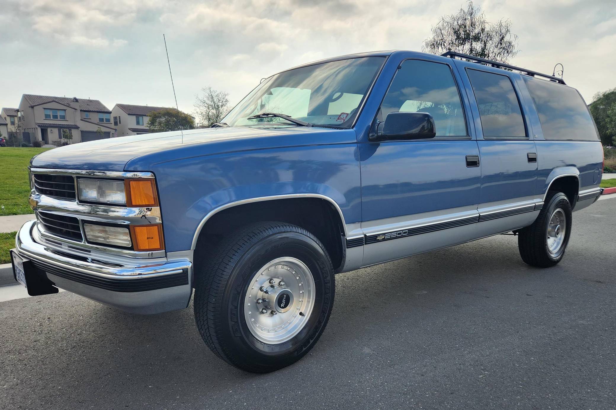
M31 214L28 205L30 158L51 148L0 148L0 216Z

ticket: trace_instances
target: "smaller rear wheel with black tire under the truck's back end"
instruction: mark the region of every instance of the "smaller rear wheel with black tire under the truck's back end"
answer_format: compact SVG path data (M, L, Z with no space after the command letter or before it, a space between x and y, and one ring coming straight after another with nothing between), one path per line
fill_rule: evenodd
M517 246L525 263L549 268L561 262L572 227L571 204L562 192L549 191L537 219L519 230Z

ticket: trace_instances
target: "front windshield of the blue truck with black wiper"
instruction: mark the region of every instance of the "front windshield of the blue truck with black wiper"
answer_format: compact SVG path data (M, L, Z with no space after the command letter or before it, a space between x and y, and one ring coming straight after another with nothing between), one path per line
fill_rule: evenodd
M265 79L222 120L230 127L296 125L277 113L306 123L348 128L383 65L384 57L349 58L284 71Z

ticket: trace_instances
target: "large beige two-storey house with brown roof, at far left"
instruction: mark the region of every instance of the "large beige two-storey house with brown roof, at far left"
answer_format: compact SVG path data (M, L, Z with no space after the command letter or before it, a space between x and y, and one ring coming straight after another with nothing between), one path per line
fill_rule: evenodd
M109 108L89 98L23 94L17 124L25 142L30 143L34 140L57 143L62 141L63 133L72 135L71 143L116 136Z

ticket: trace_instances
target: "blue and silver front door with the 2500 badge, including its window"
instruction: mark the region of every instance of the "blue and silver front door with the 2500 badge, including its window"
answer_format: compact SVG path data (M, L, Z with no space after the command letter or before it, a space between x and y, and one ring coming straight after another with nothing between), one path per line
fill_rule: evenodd
M397 111L429 113L437 136L359 143L363 265L474 239L479 149L464 115L468 100L457 81L448 63L405 60L376 120Z

